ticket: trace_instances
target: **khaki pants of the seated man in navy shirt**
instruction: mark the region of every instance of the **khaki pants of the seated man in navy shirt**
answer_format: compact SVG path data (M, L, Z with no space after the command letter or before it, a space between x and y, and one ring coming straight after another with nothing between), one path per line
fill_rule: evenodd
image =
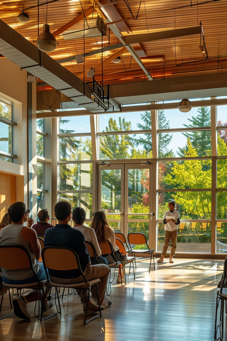
M99 291L99 298L100 298L100 305L102 305L104 301L106 286L108 282L108 277L110 273L110 268L106 264L98 264L98 265L89 265L86 266L84 270L84 275L87 279L87 281L91 281L93 279L99 278L100 282L98 283L98 291ZM74 283L84 283L83 276L79 276L76 278L56 278L53 276L50 276L50 279L59 284L74 284ZM77 290L77 293L79 294L79 290ZM94 285L91 287L91 293L92 297L97 300L96 290ZM87 291L81 290L81 293L79 294L81 304L87 303Z

